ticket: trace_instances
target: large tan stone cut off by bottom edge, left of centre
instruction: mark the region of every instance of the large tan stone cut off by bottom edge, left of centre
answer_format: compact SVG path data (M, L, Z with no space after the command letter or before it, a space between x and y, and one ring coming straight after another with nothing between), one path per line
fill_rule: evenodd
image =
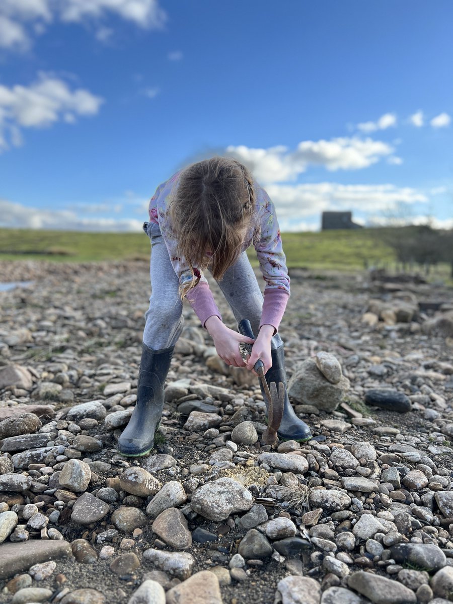
M202 570L167 591L167 604L222 604L219 579Z

